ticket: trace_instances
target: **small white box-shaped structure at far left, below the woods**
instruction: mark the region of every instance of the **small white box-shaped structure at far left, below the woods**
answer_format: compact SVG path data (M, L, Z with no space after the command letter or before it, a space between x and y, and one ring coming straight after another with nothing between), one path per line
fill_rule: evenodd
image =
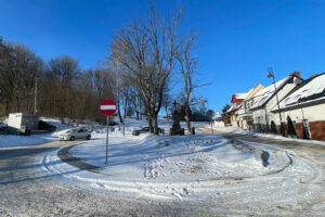
M9 114L8 127L10 133L20 133L22 129L38 130L38 115L27 113Z

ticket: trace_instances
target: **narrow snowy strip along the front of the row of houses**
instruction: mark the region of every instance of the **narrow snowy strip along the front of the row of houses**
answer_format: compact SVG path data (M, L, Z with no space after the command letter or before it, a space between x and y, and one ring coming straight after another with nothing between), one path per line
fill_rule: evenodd
M259 132L243 130L243 129L238 129L238 128L234 128L234 127L216 127L216 126L213 126L213 129L219 130L219 131L224 131L224 132L238 133L238 135L250 135L250 136L265 137L265 138L272 138L272 139L280 139L280 140L285 140L285 141L308 142L308 143L313 143L313 144L325 145L325 141L295 139L295 138L287 138L287 137L282 137L280 135L271 135L271 133L259 133Z

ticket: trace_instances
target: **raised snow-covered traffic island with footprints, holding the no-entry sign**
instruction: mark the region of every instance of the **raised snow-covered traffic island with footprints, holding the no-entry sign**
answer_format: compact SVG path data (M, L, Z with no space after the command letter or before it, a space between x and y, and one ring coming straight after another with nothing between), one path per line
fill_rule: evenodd
M110 164L105 166L105 140L82 143L69 151L73 156L103 167L102 173L118 180L195 181L268 171L252 153L236 150L227 140L209 135L156 137L145 133L123 138L116 132L109 137L108 152Z

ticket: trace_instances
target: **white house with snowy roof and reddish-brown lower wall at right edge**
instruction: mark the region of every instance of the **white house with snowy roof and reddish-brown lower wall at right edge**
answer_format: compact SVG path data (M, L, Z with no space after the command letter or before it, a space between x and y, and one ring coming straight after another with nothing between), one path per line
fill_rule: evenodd
M278 115L277 106L272 114ZM288 135L325 140L325 73L303 80L280 103Z

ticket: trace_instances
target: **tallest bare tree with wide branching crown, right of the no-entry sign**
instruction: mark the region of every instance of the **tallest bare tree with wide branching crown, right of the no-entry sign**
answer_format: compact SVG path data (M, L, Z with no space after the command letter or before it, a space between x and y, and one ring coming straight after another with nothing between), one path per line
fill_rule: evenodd
M112 58L119 61L135 81L148 126L156 135L164 90L174 66L181 14L182 10L177 11L162 21L156 12L154 1L151 1L147 22L134 20L116 34L110 44Z

